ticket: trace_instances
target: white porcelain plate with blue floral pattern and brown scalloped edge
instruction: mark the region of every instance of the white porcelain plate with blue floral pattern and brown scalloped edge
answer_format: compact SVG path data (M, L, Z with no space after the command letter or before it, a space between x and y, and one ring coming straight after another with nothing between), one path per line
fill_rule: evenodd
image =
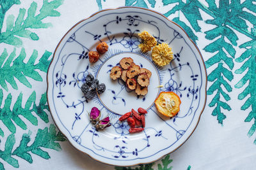
M150 52L141 52L138 33L142 31L172 47L170 64L157 67ZM88 52L101 41L108 43L109 50L92 64ZM136 96L122 80L109 78L111 68L123 57L152 72L145 97ZM90 101L80 89L88 73L106 84L106 91ZM152 162L177 150L195 130L206 101L207 74L195 43L178 24L143 8L103 10L74 25L54 52L47 81L49 108L60 131L81 152L115 166ZM173 118L156 110L154 100L161 91L180 96L180 111ZM101 110L101 118L109 116L112 125L96 131L88 119L92 107ZM148 111L145 130L129 134L127 122L118 118L140 107Z

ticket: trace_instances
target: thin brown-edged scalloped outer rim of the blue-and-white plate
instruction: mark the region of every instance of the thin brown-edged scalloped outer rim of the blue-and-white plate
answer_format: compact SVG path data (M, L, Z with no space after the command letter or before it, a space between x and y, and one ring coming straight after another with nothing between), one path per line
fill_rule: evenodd
M172 24L175 24L177 25L185 34L186 36L188 37L188 39L191 41L191 43L193 43L193 45L195 46L196 50L198 51L201 59L202 59L202 63L203 63L203 66L204 66L204 71L205 71L205 100L204 100L204 105L202 107L202 110L200 111L200 115L198 117L198 120L196 122L196 125L195 125L195 128L193 129L193 131L191 132L191 134L189 134L188 138L184 140L184 142L182 142L179 146L177 146L177 148L175 148L174 150L172 150L172 152L168 152L166 154L164 154L163 156L159 157L158 159L155 159L155 160L152 160L150 162L142 162L142 163L136 163L136 164L131 164L131 165L125 165L126 167L129 167L129 166L136 166L136 165L139 165L139 164L150 164L152 162L156 162L157 160L160 160L161 158L163 158L165 155L168 155L170 153L173 153L175 152L176 150L178 150L180 148L180 146L184 145L184 143L186 143L186 141L188 141L188 139L191 137L191 135L193 134L193 132L195 132L195 129L196 127L198 126L199 122L200 122L200 119L201 119L201 116L202 116L202 113L204 112L204 109L205 109L205 105L207 103L207 79L208 79L208 75L207 75L207 69L205 67L205 61L204 61L204 58L202 57L202 53L200 52L198 46L196 46L195 42L189 38L189 35L188 33L179 25L177 24L176 22L173 22L172 20L170 20L168 17L165 17L162 13L159 13L158 11L156 10L151 10L151 9L148 9L148 8L142 8L142 7L138 7L138 6L120 6L120 7L116 7L116 8L106 8L104 10L100 10L100 11L97 11L95 13L93 13L92 15L90 15L89 17L87 18L84 18L83 20L80 20L79 22L77 22L76 24L74 24L70 29L68 29L68 31L62 36L62 38L60 39L58 45L56 46L55 50L54 50L54 53L52 55L52 60L49 64L49 67L47 69L47 76L46 76L46 81L47 81L47 90L46 90L46 97L47 97L47 104L48 104L48 107L49 107L49 112L51 113L51 117L52 117L52 120L54 122L54 124L56 125L56 127L58 128L58 130L65 136L65 138L67 138L67 141L71 144L71 146L73 146L76 150L78 150L79 152L82 152L82 153L85 153L86 155L88 155L90 158L92 158L93 160L96 160L97 162L100 162L102 164L107 164L109 166L118 166L118 167L122 167L122 165L114 165L114 164L109 164L107 162L102 162L98 159L96 159L95 157L93 157L92 155L90 155L89 153L86 153L82 150L79 150L79 148L77 148L73 143L72 141L70 141L67 137L66 134L63 133L63 131L61 131L60 127L58 126L58 124L56 124L56 121L54 119L54 117L52 116L52 111L51 111L51 108L50 108L50 105L49 105L49 96L48 96L48 92L49 92L49 69L52 65L52 62L54 60L54 57L56 55L56 51L58 49L58 47L60 46L60 43L63 41L63 39L65 38L65 36L67 36L67 34L72 31L72 29L74 29L77 25L79 25L81 22L84 22L85 20L88 20L89 18L92 18L93 16L97 15L98 13L101 13L103 11L111 11L111 10L118 10L118 9L122 9L122 8L135 8L135 9L140 9L140 10L146 10L146 11L150 11L150 12L153 12L153 13L156 13L157 15L161 15L161 17L164 17L166 20L168 20L168 22L172 22Z

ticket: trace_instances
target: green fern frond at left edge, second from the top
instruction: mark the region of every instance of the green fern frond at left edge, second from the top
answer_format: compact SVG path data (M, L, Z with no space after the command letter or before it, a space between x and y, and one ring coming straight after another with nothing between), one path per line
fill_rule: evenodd
M0 85L1 87L3 87L4 90L8 91L6 81L10 83L10 85L12 85L13 89L18 89L17 83L15 82L13 77L17 78L20 83L26 85L29 88L31 88L31 84L26 77L33 78L36 81L42 81L42 77L40 76L38 71L36 71L36 69L44 71L45 73L47 72L47 68L51 62L51 60L49 60L51 52L45 51L44 55L40 58L38 64L35 64L35 60L38 57L38 52L36 50L34 50L27 63L23 62L23 60L26 58L26 52L24 48L22 48L22 50L20 51L19 56L15 60L13 60L15 56L15 48L13 52L10 53L9 57L5 48L3 53L0 55L0 66L2 66L0 67L0 72L2 73L0 77ZM4 62L4 60L6 61ZM10 66L12 62L13 65Z

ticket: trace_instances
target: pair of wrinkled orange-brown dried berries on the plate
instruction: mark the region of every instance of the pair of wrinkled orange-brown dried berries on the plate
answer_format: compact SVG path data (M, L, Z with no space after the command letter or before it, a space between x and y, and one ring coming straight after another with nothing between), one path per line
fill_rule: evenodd
M97 51L90 51L88 53L90 62L97 62L100 58L100 54L108 52L108 45L106 42L101 42L96 46Z

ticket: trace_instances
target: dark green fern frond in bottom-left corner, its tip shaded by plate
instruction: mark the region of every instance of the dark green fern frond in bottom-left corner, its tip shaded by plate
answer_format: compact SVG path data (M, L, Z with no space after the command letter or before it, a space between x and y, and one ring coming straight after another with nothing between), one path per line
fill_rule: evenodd
M61 150L61 147L60 144L56 142L65 141L63 134L61 134L61 132L56 132L56 127L54 127L52 124L50 125L49 129L48 127L45 127L45 129L38 129L35 141L28 146L28 143L31 141L30 136L31 131L29 131L28 134L23 134L19 146L13 150L15 136L14 134L10 134L6 140L4 150L0 150L1 159L8 162L8 164L13 167L19 167L19 162L13 157L14 155L28 161L30 164L33 163L31 153L44 159L50 159L50 155L42 150L42 148L49 148L59 151ZM4 169L3 163L1 162L0 169Z

